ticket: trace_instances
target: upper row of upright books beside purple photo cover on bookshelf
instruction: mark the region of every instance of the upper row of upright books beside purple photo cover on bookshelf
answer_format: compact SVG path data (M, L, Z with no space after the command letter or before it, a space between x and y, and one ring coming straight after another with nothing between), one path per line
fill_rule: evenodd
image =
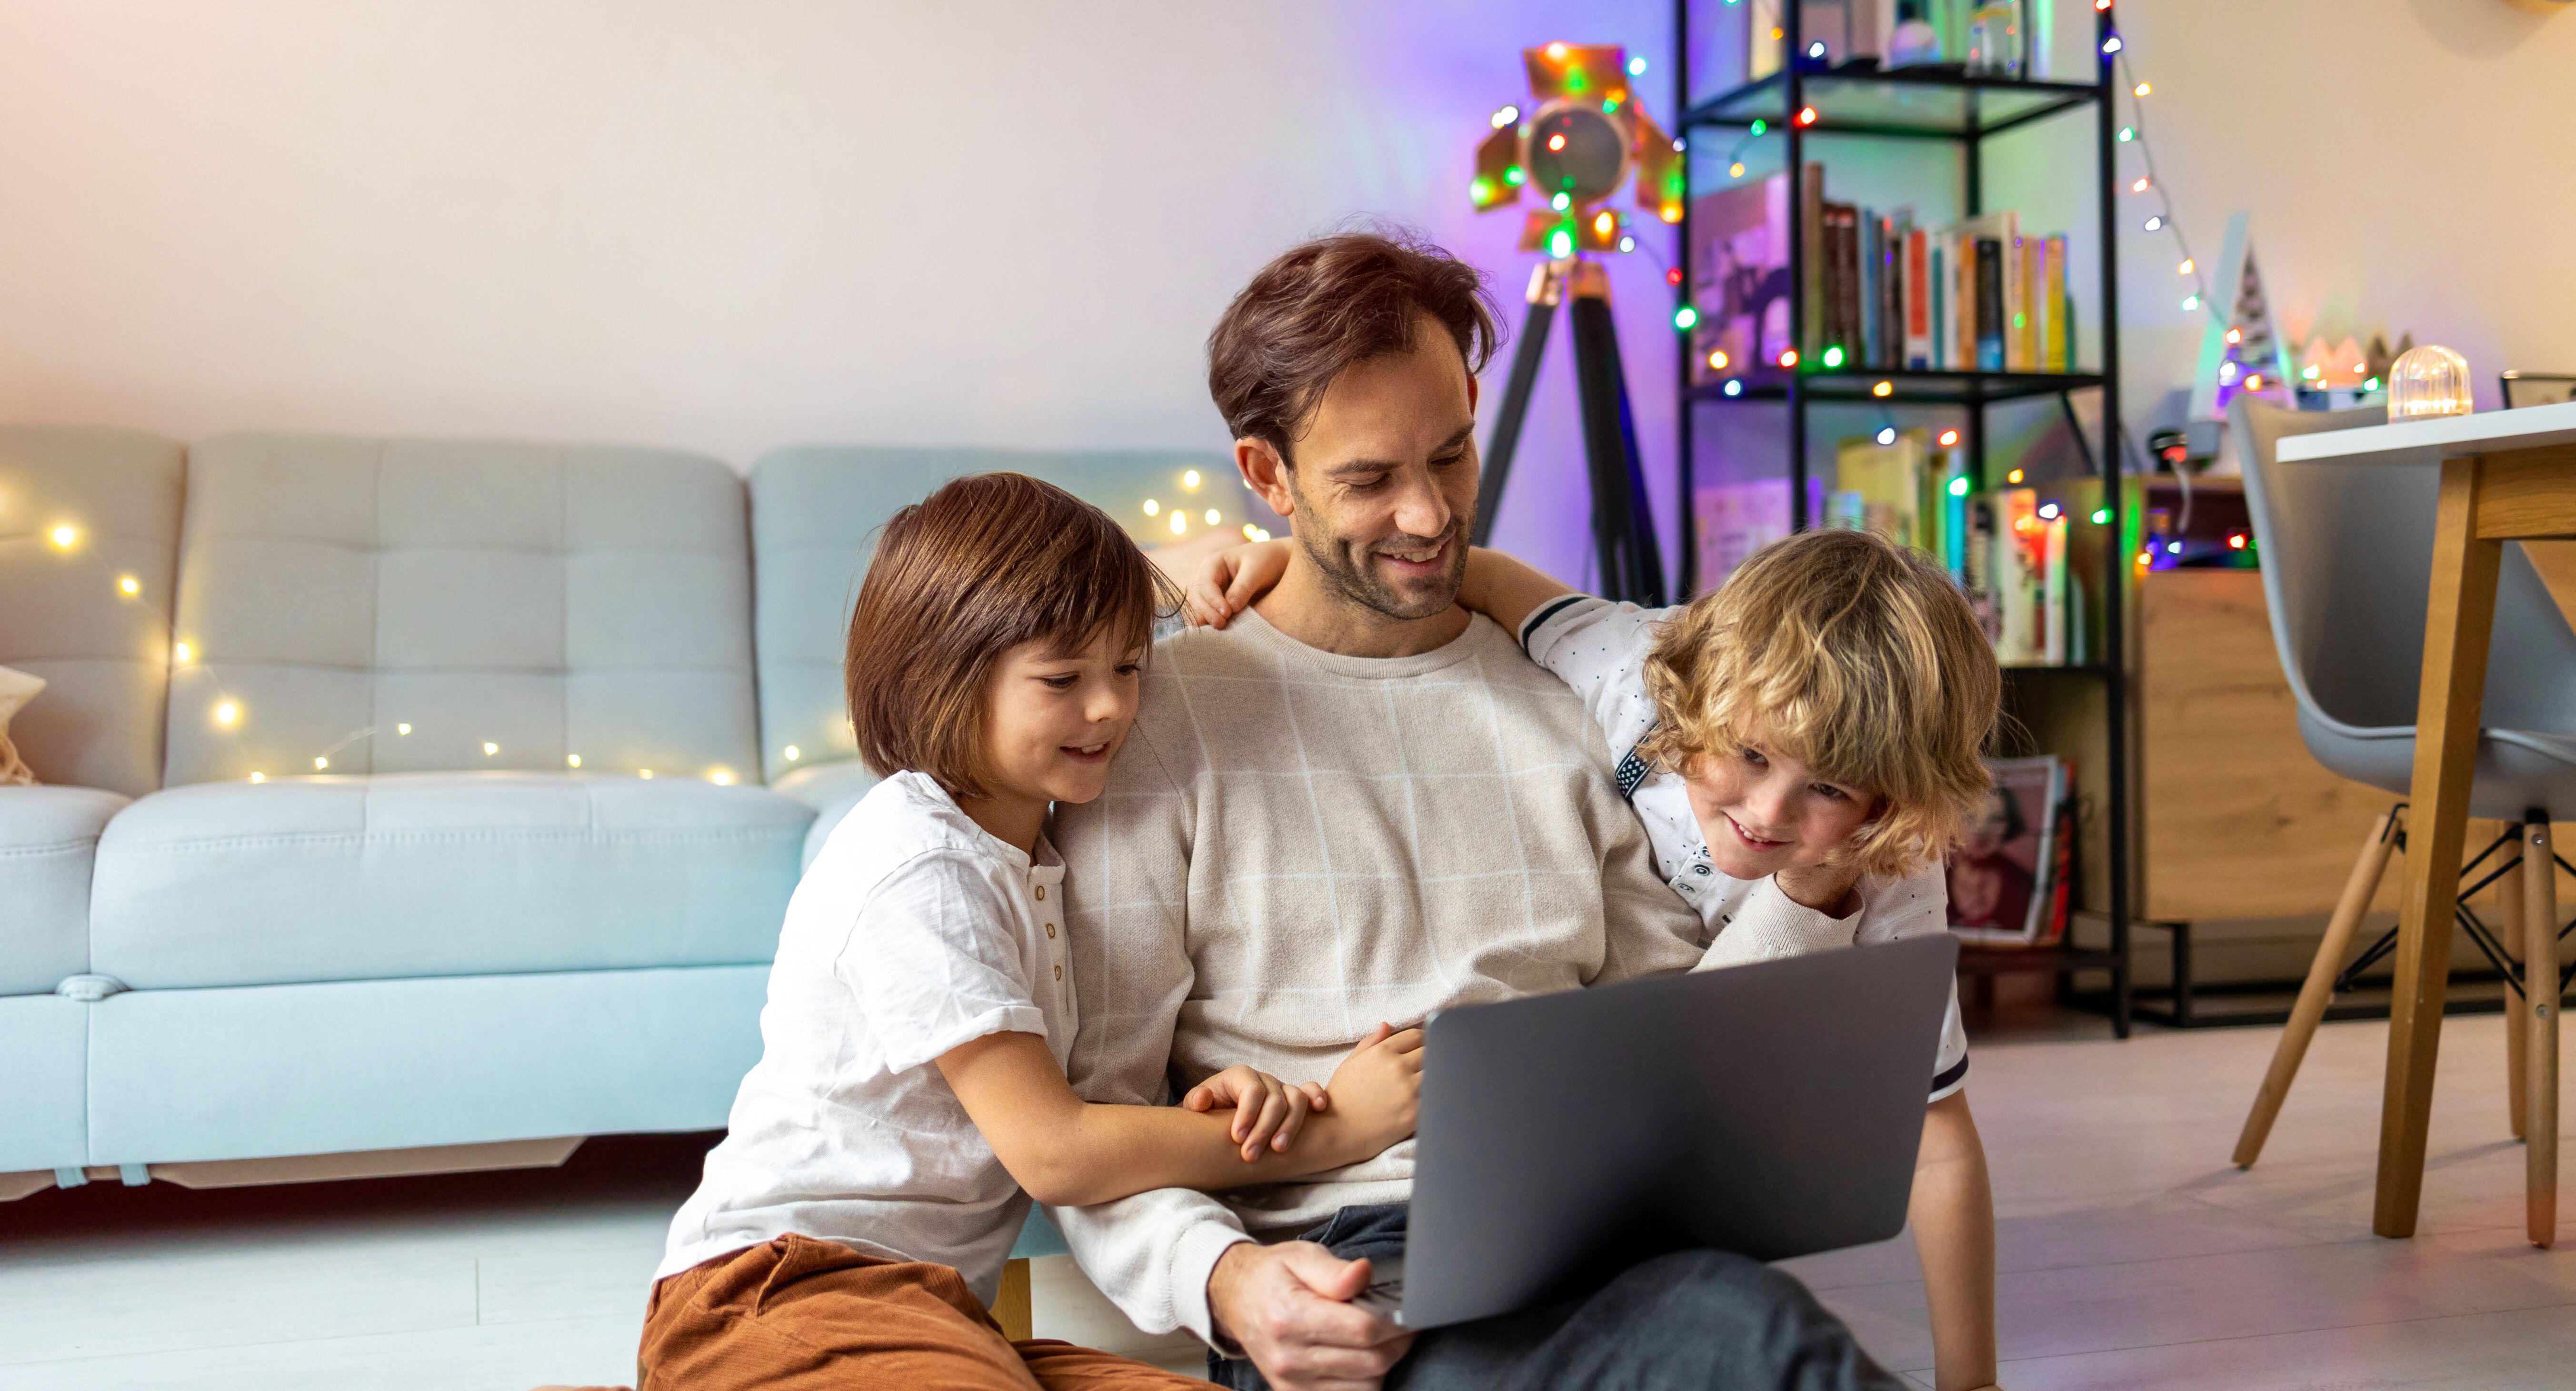
M1917 227L1824 196L1824 165L1801 180L1806 335L1788 335L1788 175L1698 198L1690 209L1698 381L1783 366L1870 371L2076 371L2066 234L2025 234L2012 211Z

